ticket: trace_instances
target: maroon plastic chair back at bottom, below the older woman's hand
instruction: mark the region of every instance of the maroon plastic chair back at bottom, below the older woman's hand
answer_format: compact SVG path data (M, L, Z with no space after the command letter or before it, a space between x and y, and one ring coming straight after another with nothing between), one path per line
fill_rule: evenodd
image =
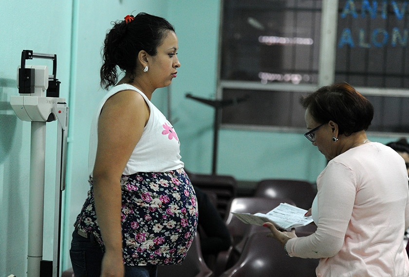
M269 232L257 232L246 242L242 255L235 265L221 277L312 277L318 259L292 258Z

